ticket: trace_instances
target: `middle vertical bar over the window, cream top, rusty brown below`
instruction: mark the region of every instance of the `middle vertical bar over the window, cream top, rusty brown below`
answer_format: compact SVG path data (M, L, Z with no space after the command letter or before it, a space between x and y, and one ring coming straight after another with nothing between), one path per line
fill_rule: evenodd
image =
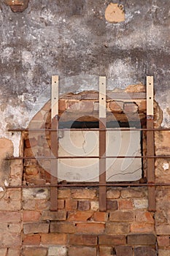
M106 78L99 78L99 157L106 157ZM99 185L106 184L106 158L99 158ZM107 210L107 187L99 186L99 210Z

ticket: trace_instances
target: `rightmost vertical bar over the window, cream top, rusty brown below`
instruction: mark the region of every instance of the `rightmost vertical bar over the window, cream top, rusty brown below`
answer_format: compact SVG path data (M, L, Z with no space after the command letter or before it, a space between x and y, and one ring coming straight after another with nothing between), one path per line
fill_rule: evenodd
M153 129L153 77L147 77L147 129ZM147 131L147 156L154 156L154 131ZM147 159L147 182L155 184L155 159ZM148 210L156 210L155 187L148 187Z

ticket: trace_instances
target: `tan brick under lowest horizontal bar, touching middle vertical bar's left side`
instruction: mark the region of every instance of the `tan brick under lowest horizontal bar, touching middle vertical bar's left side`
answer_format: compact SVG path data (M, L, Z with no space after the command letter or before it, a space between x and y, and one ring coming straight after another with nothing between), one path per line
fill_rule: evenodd
M96 189L72 189L72 197L78 199L94 199Z

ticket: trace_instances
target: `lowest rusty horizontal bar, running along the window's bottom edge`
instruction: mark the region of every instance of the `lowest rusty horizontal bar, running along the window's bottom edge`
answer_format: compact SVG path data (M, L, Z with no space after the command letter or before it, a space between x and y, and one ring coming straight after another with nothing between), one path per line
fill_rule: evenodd
M7 189L30 189L39 187L170 187L170 183L83 183L83 184L47 184L47 185L20 185L20 186L6 186Z

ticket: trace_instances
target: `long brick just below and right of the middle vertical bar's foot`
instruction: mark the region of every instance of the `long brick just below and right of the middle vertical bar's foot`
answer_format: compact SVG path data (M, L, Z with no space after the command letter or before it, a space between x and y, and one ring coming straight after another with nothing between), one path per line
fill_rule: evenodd
M114 211L109 215L111 222L133 222L134 219L134 211Z

